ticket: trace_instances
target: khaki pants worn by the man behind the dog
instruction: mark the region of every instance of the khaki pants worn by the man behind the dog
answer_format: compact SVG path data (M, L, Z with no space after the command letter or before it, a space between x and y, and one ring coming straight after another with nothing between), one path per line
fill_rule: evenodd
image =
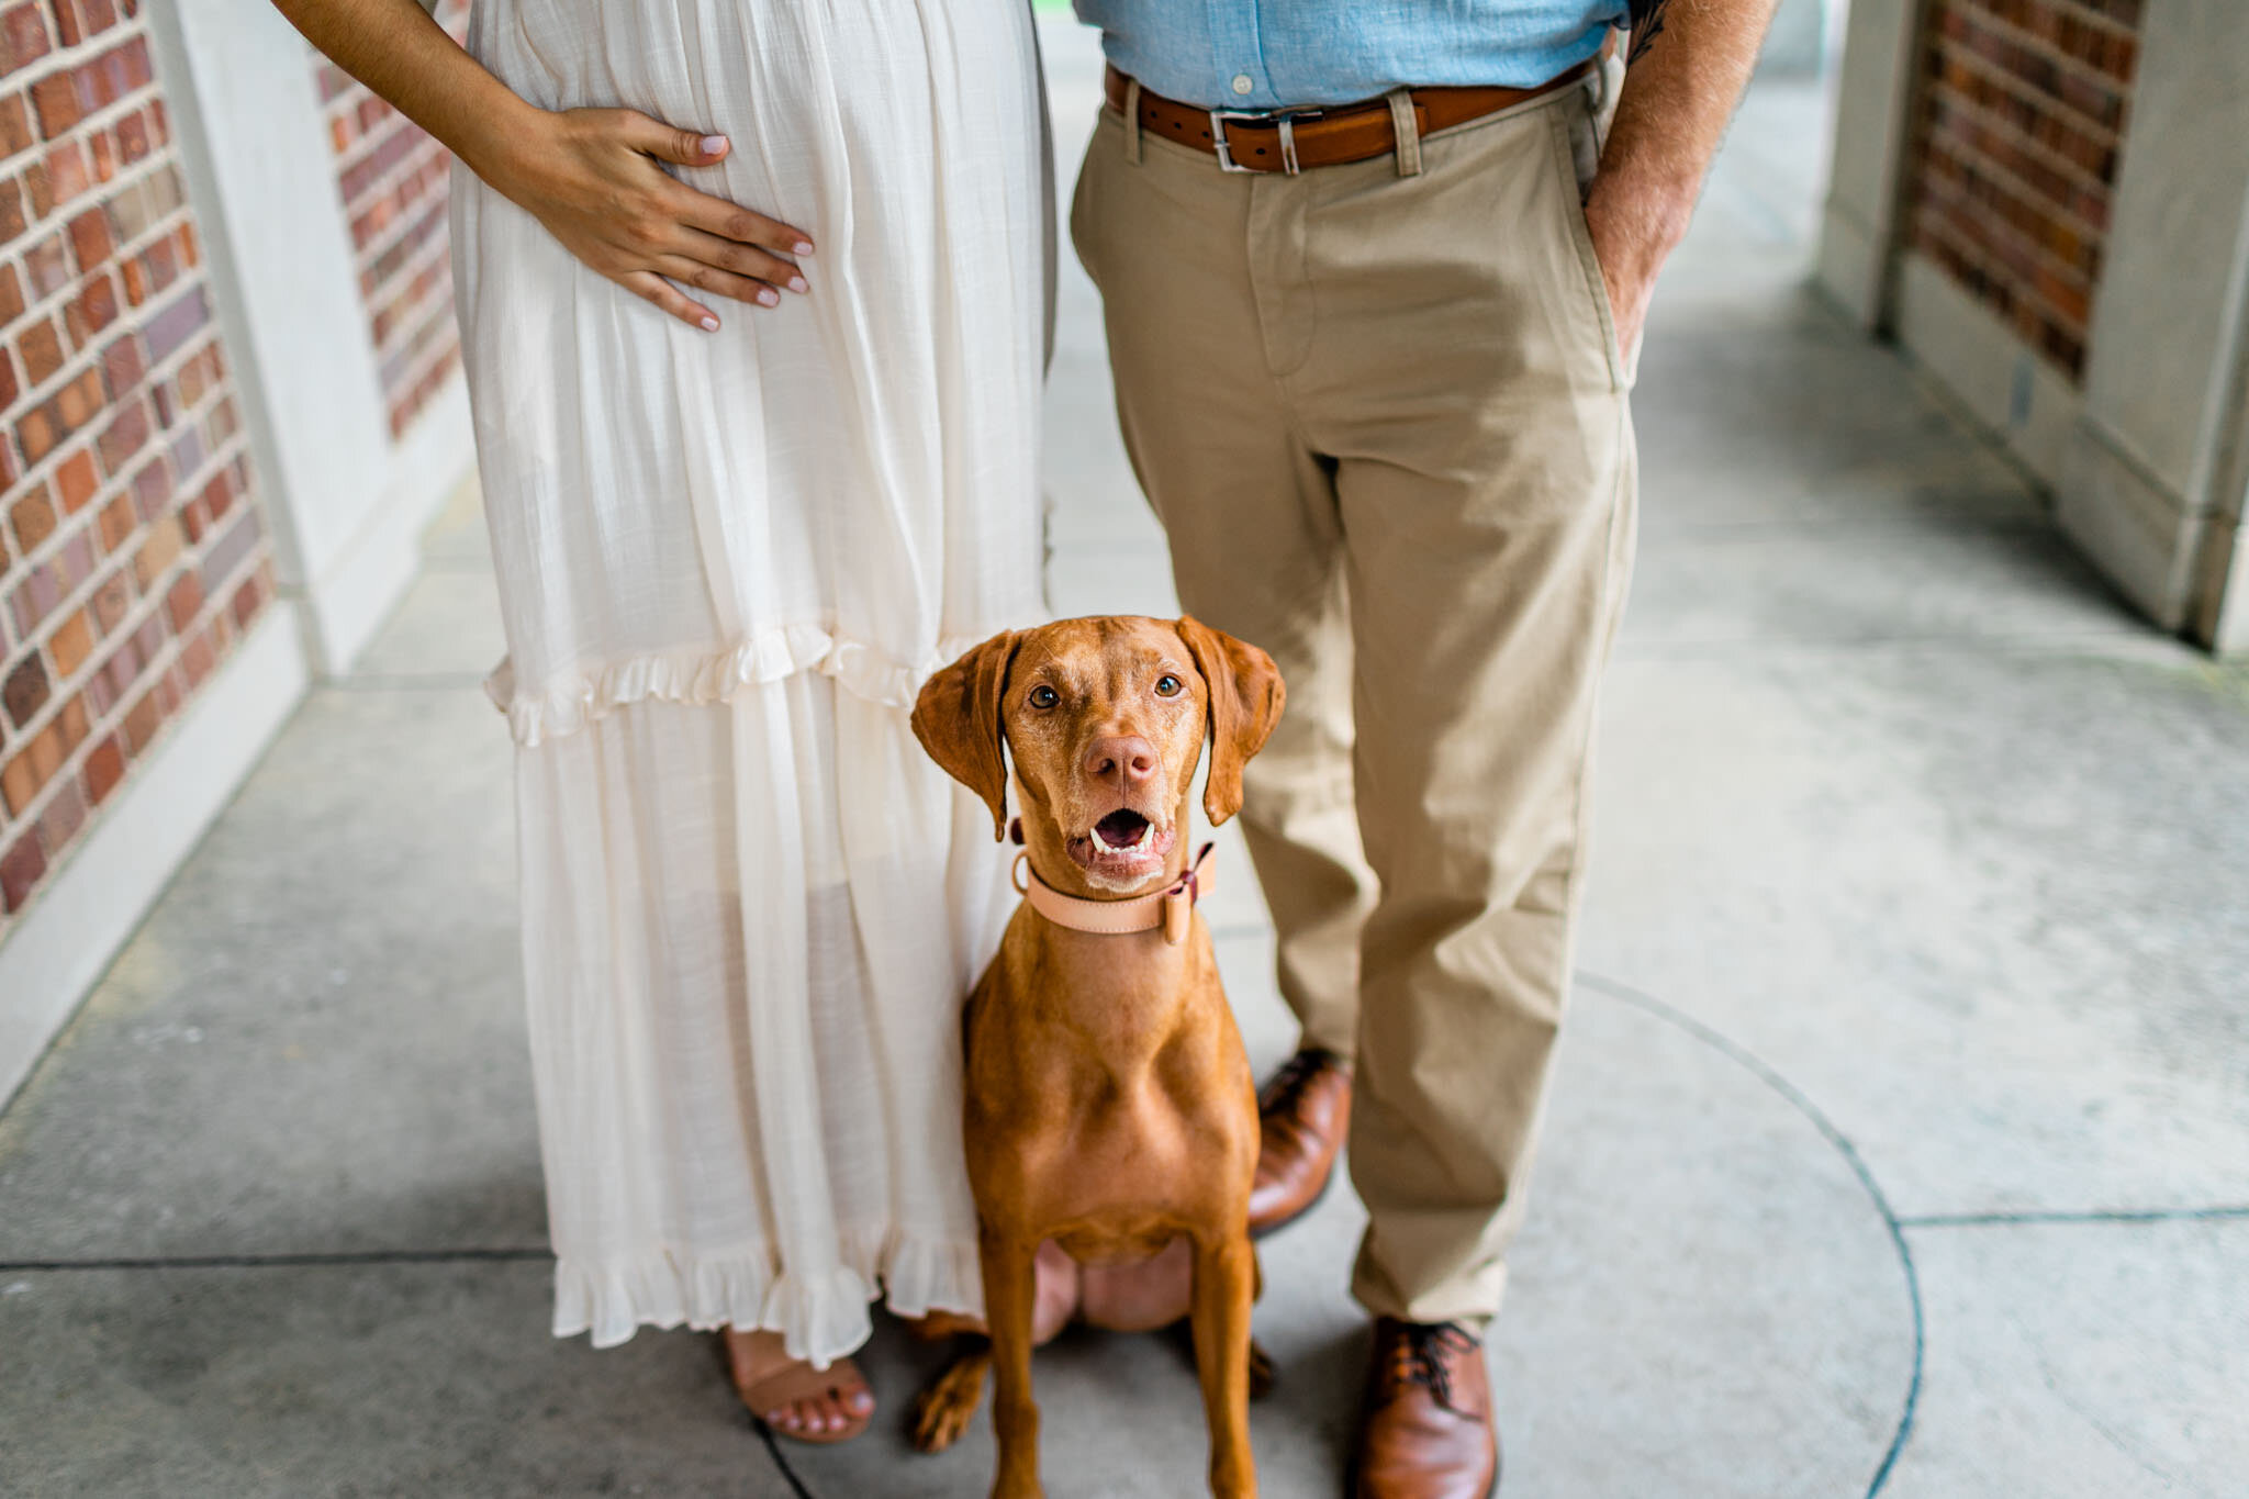
M1635 512L1579 211L1619 74L1300 178L1104 110L1071 209L1181 602L1289 683L1244 825L1304 1041L1356 1056L1354 1294L1415 1321L1498 1310L1570 980Z

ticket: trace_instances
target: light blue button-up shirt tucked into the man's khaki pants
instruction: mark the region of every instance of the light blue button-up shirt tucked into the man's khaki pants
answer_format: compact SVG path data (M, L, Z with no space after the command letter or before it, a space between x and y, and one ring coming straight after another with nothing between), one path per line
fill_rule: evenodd
M1532 88L1601 49L1626 0L1075 0L1120 72L1205 110L1401 85Z

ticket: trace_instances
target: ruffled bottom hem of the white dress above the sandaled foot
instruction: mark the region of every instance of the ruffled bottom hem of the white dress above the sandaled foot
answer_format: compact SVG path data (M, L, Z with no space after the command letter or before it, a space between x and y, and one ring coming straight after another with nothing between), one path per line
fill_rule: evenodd
M780 1270L778 1254L758 1245L726 1256L556 1261L556 1337L591 1333L596 1348L614 1348L643 1326L765 1328L783 1335L789 1357L825 1369L866 1342L866 1308L877 1299L900 1317L981 1317L976 1245L897 1229L846 1234L841 1261L812 1274Z

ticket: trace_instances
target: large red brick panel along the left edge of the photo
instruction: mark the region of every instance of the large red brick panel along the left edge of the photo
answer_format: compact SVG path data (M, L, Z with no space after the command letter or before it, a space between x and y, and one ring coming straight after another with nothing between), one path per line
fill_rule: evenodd
M144 0L0 0L0 935L272 598Z

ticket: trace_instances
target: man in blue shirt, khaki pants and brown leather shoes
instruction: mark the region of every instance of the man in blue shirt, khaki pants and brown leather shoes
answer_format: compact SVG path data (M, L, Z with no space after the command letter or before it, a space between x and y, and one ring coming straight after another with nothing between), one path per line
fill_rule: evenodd
M1250 1211L1307 1209L1349 1121L1365 1499L1498 1481L1482 1333L1568 991L1633 353L1772 7L1077 0L1124 440L1181 602L1289 681L1244 825L1302 1052Z

